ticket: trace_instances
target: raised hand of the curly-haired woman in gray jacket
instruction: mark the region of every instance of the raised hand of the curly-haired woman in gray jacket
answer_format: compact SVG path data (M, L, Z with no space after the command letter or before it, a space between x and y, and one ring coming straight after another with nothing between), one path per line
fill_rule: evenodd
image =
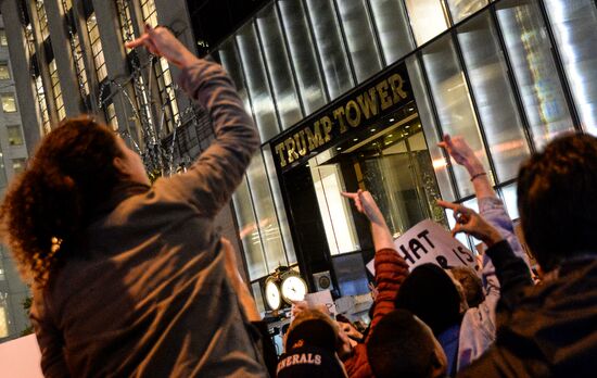
M145 25L145 33L125 46L135 49L144 46L152 54L164 56L168 62L183 68L191 65L199 58L190 52L167 28L163 26L151 27Z

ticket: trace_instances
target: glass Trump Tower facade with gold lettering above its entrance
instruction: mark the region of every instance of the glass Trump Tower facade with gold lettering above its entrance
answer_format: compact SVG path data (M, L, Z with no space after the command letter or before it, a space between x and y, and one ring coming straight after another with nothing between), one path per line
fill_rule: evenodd
M263 142L233 199L262 305L279 265L312 290L327 274L340 294L367 290L368 225L343 190L370 190L395 236L424 218L453 226L439 198L474 209L443 134L466 138L517 218L520 162L558 134L597 135L596 42L593 0L265 4L209 50Z

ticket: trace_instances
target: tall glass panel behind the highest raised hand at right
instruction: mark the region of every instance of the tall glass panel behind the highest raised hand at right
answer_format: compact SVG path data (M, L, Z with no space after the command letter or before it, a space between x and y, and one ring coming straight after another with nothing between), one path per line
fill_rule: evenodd
M429 77L431 94L444 133L463 137L490 172L479 125L472 108L462 67L458 62L450 36L444 36L423 51L423 64ZM474 194L469 173L454 165L460 197Z

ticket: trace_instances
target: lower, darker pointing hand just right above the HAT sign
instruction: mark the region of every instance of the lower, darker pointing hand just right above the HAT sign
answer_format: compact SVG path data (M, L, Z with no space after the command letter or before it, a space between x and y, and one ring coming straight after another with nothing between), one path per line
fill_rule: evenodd
M504 239L497 229L485 222L485 219L473 210L461 204L442 200L439 200L437 204L444 209L450 209L454 212L456 226L454 226L452 230L453 236L458 232L465 232L482 240L487 247L492 247Z

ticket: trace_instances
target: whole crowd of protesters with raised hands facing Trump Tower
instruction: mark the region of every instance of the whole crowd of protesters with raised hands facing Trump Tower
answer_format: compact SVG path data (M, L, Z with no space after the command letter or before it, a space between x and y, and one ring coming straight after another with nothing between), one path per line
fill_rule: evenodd
M166 28L145 47L181 71L215 140L186 173L150 185L140 156L89 117L46 136L0 207L31 282L48 377L592 377L597 370L597 139L567 135L522 164L512 220L462 138L440 143L470 175L479 213L445 201L453 234L481 240L481 277L409 270L366 190L343 193L370 223L376 295L366 329L297 305L276 355L214 218L259 140L224 68Z

